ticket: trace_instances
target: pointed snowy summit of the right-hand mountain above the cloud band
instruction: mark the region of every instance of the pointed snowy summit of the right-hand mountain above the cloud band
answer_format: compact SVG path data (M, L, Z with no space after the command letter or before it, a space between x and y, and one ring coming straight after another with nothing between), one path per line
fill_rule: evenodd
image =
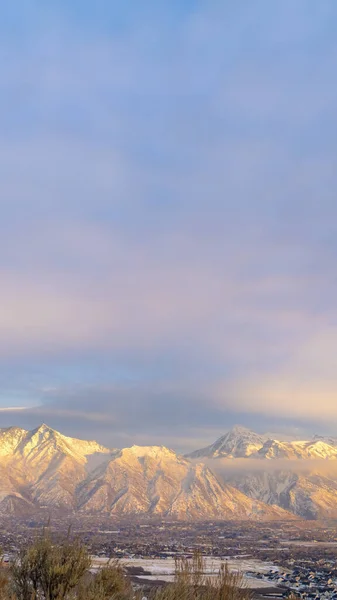
M262 448L265 437L236 425L214 444L188 454L189 458L247 458Z

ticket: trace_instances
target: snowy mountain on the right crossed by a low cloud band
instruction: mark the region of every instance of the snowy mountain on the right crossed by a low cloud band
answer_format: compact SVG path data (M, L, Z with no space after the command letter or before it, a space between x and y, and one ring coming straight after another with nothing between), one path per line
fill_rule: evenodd
M336 518L335 438L280 441L235 427L191 456L207 459L218 476L250 498L305 519Z

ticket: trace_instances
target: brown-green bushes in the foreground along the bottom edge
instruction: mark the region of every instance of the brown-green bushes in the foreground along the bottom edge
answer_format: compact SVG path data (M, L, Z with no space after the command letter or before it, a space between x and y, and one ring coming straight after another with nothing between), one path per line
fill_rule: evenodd
M54 544L44 534L0 572L0 600L140 600L118 561L90 572L86 547L69 538ZM149 600L248 600L238 573L223 565L216 577L205 575L201 554L176 561L174 582L147 594Z

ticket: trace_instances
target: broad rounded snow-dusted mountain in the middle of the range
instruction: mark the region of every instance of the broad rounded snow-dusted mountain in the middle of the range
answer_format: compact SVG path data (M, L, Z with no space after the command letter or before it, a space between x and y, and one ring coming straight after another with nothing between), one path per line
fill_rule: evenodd
M165 447L125 448L98 467L79 490L81 510L110 515L176 519L287 519L221 483L204 464L191 463Z

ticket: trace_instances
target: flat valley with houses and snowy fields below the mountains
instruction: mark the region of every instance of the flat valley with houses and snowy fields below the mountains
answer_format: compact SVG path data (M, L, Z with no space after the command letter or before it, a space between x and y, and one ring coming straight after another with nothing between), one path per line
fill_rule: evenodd
M286 597L290 591L297 597L333 598L337 589L336 521L142 522L45 512L34 519L3 517L1 525L0 544L8 561L43 528L56 542L70 530L89 549L94 569L118 558L134 585L145 590L171 581L174 559L195 551L206 557L210 573L221 562L240 571L255 598Z

